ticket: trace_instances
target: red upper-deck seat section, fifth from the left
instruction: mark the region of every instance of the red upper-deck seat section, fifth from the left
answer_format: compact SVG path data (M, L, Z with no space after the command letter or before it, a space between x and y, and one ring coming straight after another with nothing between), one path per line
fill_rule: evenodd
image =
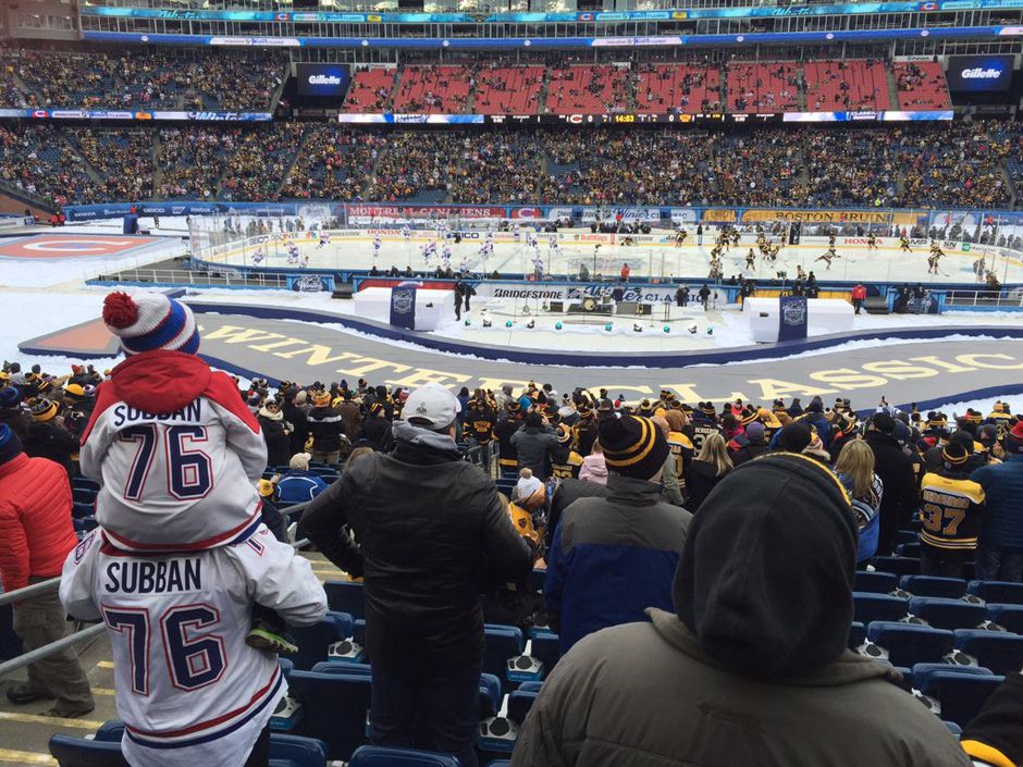
M720 112L722 71L692 64L639 64L636 111L640 114Z

